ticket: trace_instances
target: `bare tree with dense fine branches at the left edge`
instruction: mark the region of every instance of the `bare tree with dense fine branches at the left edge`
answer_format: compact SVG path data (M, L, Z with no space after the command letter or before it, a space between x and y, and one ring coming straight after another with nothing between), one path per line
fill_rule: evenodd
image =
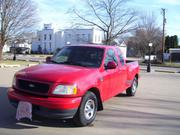
M22 38L36 22L36 7L31 0L0 0L0 60L4 45Z

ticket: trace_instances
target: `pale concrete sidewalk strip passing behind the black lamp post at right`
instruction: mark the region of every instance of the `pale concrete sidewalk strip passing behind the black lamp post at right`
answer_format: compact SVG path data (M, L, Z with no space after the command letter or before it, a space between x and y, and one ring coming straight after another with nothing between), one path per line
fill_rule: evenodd
M147 66L140 65L140 69L142 71L146 71ZM165 72L165 73L180 73L180 68L151 66L151 71L152 72Z

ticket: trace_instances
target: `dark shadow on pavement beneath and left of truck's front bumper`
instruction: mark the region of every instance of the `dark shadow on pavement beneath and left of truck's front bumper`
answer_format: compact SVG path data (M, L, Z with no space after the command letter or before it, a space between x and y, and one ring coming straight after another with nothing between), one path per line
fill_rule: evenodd
M35 117L32 121L22 119L17 121L16 109L9 103L7 97L7 87L0 87L0 128L6 129L33 129L39 126L77 128L70 120L55 120L41 117Z

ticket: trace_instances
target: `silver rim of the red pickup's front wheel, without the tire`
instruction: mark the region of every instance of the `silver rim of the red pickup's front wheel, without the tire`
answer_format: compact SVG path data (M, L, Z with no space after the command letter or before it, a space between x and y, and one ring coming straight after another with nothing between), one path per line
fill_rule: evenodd
M84 115L87 120L90 120L94 116L95 112L95 102L92 99L89 99L84 108Z

